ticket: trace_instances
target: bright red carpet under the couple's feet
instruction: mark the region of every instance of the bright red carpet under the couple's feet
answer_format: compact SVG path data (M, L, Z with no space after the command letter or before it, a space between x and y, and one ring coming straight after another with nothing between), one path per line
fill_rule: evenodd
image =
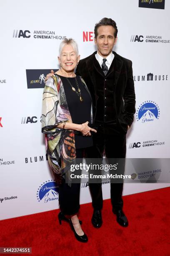
M128 228L118 225L105 200L100 229L92 227L91 203L81 205L85 244L76 241L68 223L59 225L59 210L53 210L0 221L0 247L32 247L32 255L40 256L170 256L170 187L123 198Z

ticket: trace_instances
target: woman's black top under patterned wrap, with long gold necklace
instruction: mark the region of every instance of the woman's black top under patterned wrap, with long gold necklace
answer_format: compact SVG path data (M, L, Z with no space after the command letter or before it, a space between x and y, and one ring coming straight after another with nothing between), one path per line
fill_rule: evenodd
M75 90L77 91L77 84L75 77L63 77L57 74L62 80L62 84L65 91L65 96L67 100L68 109L72 118L72 123L82 124L87 121L91 123L91 105L92 100L89 92L85 88L85 85L82 83L81 78L76 76L78 86L80 88L81 96L83 101L80 101L80 96L77 95L75 91L72 90L71 85L67 81L70 81ZM82 136L75 134L75 148L87 148L92 146L92 137Z

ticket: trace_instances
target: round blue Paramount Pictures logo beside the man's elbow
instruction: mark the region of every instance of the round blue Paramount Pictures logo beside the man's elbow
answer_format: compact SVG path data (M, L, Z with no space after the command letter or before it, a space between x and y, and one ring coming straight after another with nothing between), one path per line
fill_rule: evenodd
M141 123L149 123L153 122L156 119L159 119L160 110L158 105L153 101L145 101L143 102L136 113L136 118Z

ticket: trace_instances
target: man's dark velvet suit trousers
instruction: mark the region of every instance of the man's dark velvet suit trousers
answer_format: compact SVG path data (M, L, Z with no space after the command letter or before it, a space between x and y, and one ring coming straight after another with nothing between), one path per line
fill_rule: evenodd
M100 157L102 159L105 151L105 156L110 161L109 164L112 163L112 159L122 158L122 168L125 168L126 134L119 125L103 124L93 135L93 145L92 148L88 148L86 157ZM92 195L92 206L95 210L101 210L103 202L102 184L89 183L89 187ZM123 207L122 189L123 183L110 183L110 196L114 210L120 210Z

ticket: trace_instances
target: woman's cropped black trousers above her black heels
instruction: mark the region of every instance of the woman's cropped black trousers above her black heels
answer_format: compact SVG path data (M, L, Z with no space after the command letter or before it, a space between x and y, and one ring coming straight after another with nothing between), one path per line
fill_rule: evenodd
M82 158L83 148L76 149L76 157ZM60 210L64 215L75 215L80 209L80 183L72 183L71 187L65 183L59 185L59 204Z

